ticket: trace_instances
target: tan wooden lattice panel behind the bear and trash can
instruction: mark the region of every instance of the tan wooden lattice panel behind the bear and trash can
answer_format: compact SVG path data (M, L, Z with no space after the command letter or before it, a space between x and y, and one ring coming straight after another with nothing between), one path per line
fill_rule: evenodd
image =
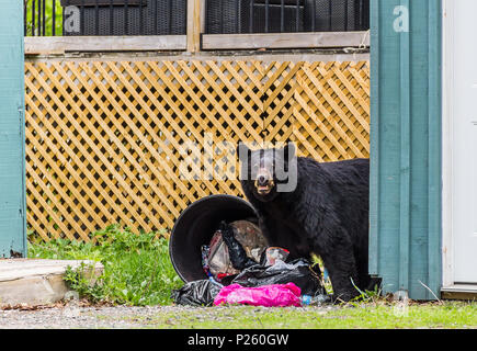
M27 63L25 84L27 223L45 240L171 228L203 196L241 196L239 140L368 155L367 63Z

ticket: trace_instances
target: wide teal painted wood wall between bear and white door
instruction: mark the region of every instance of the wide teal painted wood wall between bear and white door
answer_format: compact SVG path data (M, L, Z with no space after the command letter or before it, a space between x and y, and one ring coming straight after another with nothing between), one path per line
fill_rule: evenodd
M409 31L396 31L406 9ZM442 283L441 12L440 0L372 0L370 271L414 299Z

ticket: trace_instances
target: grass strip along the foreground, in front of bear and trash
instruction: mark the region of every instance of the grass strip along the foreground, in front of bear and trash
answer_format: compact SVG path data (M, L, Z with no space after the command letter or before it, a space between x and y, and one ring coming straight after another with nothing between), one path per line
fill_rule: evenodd
M393 303L327 308L208 307L129 315L123 320L160 329L475 329L477 304L411 304L404 309Z

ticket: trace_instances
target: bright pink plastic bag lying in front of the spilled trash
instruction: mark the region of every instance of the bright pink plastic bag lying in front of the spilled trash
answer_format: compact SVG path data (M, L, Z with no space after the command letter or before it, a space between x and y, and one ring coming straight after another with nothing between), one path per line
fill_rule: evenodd
M302 291L294 283L242 287L239 284L224 286L215 296L214 305L243 304L264 307L302 306Z

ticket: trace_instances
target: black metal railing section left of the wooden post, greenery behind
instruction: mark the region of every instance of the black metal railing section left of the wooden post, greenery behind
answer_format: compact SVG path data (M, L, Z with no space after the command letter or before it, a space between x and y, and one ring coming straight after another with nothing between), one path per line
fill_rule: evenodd
M186 32L186 0L24 0L24 3L25 35L185 35Z

